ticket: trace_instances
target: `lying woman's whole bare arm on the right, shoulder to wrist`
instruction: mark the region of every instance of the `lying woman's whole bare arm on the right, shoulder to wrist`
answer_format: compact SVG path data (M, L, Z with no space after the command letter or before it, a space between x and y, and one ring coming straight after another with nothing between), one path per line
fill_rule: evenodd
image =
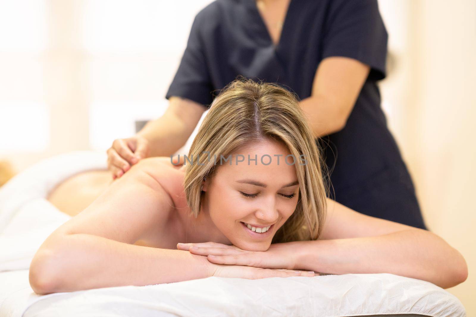
M370 217L327 199L319 240L299 241L296 267L318 272L392 273L442 288L467 278L463 256L436 234Z

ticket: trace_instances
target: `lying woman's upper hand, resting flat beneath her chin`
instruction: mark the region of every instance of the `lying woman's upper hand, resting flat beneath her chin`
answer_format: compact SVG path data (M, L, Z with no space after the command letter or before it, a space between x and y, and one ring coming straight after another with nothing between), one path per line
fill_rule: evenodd
M294 242L274 243L266 251L241 250L233 245L216 242L178 243L177 249L207 256L208 261L216 264L244 265L263 269L296 268L294 257L296 245Z

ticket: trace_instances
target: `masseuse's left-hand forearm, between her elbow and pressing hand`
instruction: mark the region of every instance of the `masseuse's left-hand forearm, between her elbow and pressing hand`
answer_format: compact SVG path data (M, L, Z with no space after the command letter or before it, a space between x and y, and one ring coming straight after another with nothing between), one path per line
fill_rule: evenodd
M149 156L170 156L188 140L190 127L177 115L166 112L161 117L149 121L138 135L149 141Z

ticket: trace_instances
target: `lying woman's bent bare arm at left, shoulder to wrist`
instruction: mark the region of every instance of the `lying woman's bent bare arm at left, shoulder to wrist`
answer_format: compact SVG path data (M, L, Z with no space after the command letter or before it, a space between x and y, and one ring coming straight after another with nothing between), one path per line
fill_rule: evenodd
M159 160L160 161L160 160ZM61 225L37 250L30 284L37 293L121 285L148 285L210 274L204 257L133 245L163 230L173 208L170 196L148 173L167 173L145 159L112 183L84 211Z

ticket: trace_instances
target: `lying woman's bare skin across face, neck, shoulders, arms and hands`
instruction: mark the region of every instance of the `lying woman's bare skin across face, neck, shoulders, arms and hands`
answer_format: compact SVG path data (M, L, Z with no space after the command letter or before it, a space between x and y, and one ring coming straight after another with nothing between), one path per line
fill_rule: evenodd
M242 152L238 154L245 157L252 153L287 154L282 145L269 142ZM30 285L35 292L149 285L208 276L256 279L295 274L279 270L283 268L334 274L392 273L443 288L467 277L464 258L435 234L366 216L329 199L318 240L271 244L276 230L296 210L301 190L294 167L275 161L270 165L219 166L212 182L202 182L205 194L194 218L183 188L185 168L174 167L169 157L148 158L106 186L85 210L40 246L30 265ZM80 177L87 179L91 174L77 175L76 180ZM74 179L69 181L72 186ZM73 190L67 194L76 195ZM252 234L243 223L269 226L269 234ZM250 255L262 259L254 259L258 264L221 264L208 260L207 252L216 252L213 248L189 252L177 245L200 246L210 241L228 252L230 247L254 252L234 260L246 260ZM76 274L79 271L83 274ZM297 274L305 276L305 272Z

